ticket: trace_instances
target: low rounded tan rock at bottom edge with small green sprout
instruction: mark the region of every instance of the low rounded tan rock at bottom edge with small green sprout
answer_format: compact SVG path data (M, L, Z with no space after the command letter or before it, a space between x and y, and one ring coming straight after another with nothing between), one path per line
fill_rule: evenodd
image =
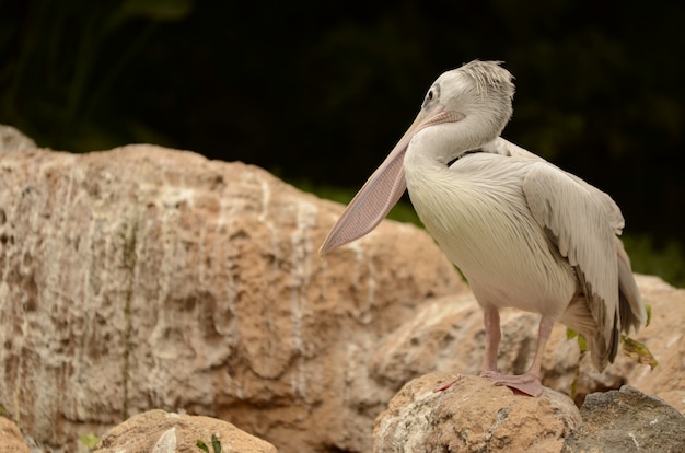
M270 443L241 431L228 421L156 409L139 414L112 428L100 440L94 453L199 453L198 440L212 452L212 435L221 442L225 453L277 452Z

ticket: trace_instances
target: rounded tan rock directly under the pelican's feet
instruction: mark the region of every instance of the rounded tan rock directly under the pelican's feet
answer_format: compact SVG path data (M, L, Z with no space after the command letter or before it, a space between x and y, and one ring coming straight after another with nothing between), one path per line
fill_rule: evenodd
M373 452L553 452L580 426L571 399L549 388L515 395L479 376L432 373L405 385L376 419Z

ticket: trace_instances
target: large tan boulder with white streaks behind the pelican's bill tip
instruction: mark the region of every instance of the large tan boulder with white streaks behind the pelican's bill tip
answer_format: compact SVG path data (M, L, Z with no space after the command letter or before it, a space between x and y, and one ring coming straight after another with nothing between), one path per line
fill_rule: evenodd
M151 146L0 154L0 404L65 451L152 408L282 452L369 451L402 385L371 378L371 355L427 298L465 288L395 222L320 259L341 209Z

